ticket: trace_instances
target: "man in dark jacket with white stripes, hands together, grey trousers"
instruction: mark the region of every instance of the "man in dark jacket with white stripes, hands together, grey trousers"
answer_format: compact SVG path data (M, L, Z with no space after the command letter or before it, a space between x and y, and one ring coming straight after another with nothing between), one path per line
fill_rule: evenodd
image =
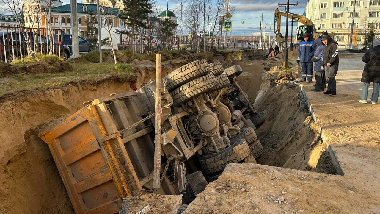
M323 35L321 40L323 45L326 46L323 49L321 63L321 70L325 68L327 83L327 91L323 92L323 94L336 95L335 76L339 67L338 46L330 40L328 35Z

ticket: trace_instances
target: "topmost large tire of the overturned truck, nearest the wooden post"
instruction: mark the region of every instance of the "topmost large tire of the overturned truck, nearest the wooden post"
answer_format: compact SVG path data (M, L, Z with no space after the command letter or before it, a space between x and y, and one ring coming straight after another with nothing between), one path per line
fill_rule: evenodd
M210 71L209 63L205 59L197 60L170 72L163 78L163 82L166 89L172 92L196 78L207 75Z

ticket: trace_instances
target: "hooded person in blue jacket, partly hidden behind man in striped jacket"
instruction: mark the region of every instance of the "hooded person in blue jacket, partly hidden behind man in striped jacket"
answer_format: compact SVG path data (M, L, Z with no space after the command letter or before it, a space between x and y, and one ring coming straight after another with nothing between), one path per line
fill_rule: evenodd
M328 33L326 33L328 34ZM311 89L311 91L324 91L326 88L326 75L325 75L325 69L321 69L321 63L322 63L322 53L325 46L323 46L322 43L322 36L326 35L325 32L322 33L315 41L315 52L314 56L312 57L312 62L314 62L314 72L315 72L315 88Z

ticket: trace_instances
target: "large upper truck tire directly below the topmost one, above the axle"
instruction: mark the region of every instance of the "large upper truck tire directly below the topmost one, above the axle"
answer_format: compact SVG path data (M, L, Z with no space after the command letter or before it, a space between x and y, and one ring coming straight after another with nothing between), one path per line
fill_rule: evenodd
M191 100L193 97L211 91L216 86L215 76L208 74L180 86L173 92L170 92L170 95L173 98L173 104L178 106Z

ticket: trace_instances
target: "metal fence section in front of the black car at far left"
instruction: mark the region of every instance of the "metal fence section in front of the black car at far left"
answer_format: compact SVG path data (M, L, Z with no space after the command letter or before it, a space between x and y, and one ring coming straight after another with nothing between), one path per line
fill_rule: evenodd
M61 29L32 29L19 27L0 28L0 60L12 62L34 53L63 56Z

